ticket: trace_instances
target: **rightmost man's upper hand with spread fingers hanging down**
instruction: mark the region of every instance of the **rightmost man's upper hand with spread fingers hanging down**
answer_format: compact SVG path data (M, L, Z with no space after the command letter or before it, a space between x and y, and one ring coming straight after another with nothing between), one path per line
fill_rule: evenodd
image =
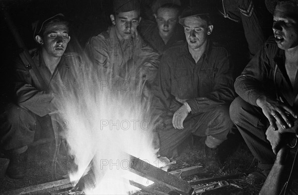
M298 114L288 105L272 98L261 96L256 101L257 105L262 108L264 115L268 118L270 126L276 131L277 123L284 129L294 126L294 119ZM275 123L277 121L277 123Z

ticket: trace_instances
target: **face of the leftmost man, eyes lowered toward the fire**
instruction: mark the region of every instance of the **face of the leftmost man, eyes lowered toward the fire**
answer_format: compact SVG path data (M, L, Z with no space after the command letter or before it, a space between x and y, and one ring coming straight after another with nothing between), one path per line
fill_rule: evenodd
M40 43L42 49L50 56L61 57L71 40L68 32L69 28L64 23L56 22L47 25Z

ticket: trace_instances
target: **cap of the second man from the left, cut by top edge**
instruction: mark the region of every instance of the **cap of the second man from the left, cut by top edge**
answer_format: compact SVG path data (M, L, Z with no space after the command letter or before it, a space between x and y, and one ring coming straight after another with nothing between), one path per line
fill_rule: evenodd
M114 12L140 10L140 0L113 0Z

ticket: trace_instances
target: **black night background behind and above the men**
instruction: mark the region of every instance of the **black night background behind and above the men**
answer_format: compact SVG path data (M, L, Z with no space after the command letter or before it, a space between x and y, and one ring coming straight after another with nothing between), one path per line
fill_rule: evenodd
M221 0L219 0L221 1ZM182 6L189 0L181 0ZM210 0L215 6L216 0ZM150 0L143 0L143 18L148 18ZM265 8L264 0L255 0L255 7L266 37L271 33L271 16ZM13 22L28 49L37 47L33 40L31 23L45 16L64 13L71 21L71 42L69 51L81 52L87 40L107 29L111 24L109 15L112 12L112 0L0 0L1 8L8 10ZM216 10L216 7L214 7ZM147 15L147 16L146 16ZM13 97L12 59L17 55L17 45L3 17L0 15L0 108ZM236 71L241 72L247 63L247 44L240 23L216 15L213 38L224 45L233 55Z

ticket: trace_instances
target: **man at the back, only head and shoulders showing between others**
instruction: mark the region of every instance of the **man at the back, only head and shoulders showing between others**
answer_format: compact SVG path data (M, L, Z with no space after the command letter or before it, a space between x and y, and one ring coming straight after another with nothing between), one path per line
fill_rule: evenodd
M140 32L149 45L163 53L180 40L185 40L183 27L178 24L181 3L177 0L157 0L152 5L156 22L142 20Z

